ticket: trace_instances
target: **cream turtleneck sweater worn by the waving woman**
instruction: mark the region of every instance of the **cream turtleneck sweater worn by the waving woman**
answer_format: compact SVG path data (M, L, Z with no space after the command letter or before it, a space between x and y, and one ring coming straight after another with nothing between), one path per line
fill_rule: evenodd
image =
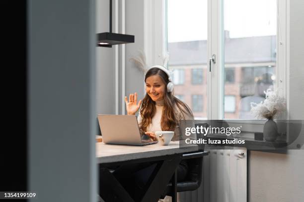
M152 117L152 123L147 128L147 131L151 131L151 132L162 131L160 120L161 120L163 105L164 105L163 100L155 102L156 112L155 112L154 116ZM180 109L177 106L175 106L175 117L178 120L178 123L180 120L191 120L192 119L190 114L184 114L184 116L183 116L182 112L180 111ZM138 120L138 124L140 125L143 120L143 117L141 114L139 114L139 116L137 117L137 120ZM179 140L179 124L178 123L174 130L174 136L172 138L173 141Z

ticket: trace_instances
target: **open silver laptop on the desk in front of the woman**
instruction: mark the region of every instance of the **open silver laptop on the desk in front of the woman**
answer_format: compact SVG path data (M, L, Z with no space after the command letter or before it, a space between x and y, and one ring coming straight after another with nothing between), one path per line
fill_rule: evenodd
M135 115L98 114L102 142L118 145L152 145L157 141L142 140Z

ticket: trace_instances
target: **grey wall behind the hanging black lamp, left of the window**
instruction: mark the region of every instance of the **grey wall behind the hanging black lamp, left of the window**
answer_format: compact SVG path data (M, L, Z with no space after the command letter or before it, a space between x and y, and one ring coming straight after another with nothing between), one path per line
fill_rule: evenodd
M121 30L121 0L119 3L119 33ZM113 26L115 27L115 2L113 1ZM138 50L144 49L144 1L126 1L126 34L135 35L135 43L126 44L126 84L125 91L129 94L137 92L139 98L144 95L144 75L130 58L138 54ZM109 31L109 2L96 1L96 33ZM119 47L119 55L122 54L122 45ZM121 104L124 103L122 92L122 61L119 59L119 114L122 114ZM96 98L97 113L115 114L115 46L112 48L96 48Z

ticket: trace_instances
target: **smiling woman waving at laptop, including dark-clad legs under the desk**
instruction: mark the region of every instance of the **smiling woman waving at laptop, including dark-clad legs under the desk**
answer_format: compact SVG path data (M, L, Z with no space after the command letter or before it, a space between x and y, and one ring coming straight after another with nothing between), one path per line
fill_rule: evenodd
M147 94L143 101L140 100L137 103L137 93L130 94L129 101L125 97L128 115L135 115L140 109L138 116L140 130L142 134L145 133L153 140L157 140L155 131L174 131L172 141L178 141L180 139L179 121L193 120L193 114L188 105L173 96L171 81L166 68L159 65L152 66L145 76ZM144 188L155 166L155 163L122 166L115 171L114 175L122 184L125 184L132 197L136 198L138 197L137 190ZM182 160L177 167L177 181L184 180L187 171L187 161ZM135 184L130 185L130 183Z

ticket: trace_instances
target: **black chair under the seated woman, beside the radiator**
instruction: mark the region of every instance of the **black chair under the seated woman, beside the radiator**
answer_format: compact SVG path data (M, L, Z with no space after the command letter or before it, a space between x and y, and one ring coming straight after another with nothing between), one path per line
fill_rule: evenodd
M207 123L195 124L196 126L208 127ZM197 139L204 138L203 135L197 134ZM199 145L197 152L184 153L182 159L186 159L188 163L188 174L184 181L177 182L177 173L172 176L171 182L167 185L164 194L160 199L165 196L171 196L172 202L177 201L177 192L186 192L197 190L202 183L202 170L203 170L203 157L208 155L209 152L204 151L204 147Z

